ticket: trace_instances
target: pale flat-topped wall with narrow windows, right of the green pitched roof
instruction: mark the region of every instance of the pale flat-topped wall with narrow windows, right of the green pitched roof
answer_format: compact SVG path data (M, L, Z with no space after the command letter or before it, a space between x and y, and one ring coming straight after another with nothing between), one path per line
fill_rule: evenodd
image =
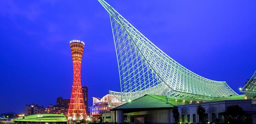
M240 120L246 124L256 123L256 101L251 99L244 100L221 100L200 103L205 108L205 121L216 122L218 118L219 123L229 123L226 118L226 109L231 105L238 105L244 110L244 115L241 116ZM198 104L186 104L179 105L178 109L180 112L180 122L182 123L197 123L202 122L197 114ZM170 113L170 116L173 116ZM254 121L254 123L252 123ZM241 122L241 123L242 123Z

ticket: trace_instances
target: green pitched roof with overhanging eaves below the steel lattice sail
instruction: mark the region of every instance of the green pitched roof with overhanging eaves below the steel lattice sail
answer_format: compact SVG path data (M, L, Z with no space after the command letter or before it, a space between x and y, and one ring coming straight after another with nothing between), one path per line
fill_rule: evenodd
M146 94L138 99L132 100L131 102L127 102L121 106L116 108L112 108L111 111L114 110L160 110L160 109L170 109L173 108L174 105L170 103L166 103L165 96L159 95L149 95Z

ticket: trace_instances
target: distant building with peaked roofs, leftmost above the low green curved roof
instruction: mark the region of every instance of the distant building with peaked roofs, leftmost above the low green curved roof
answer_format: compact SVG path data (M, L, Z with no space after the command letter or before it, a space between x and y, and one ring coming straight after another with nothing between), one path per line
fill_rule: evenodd
M33 115L33 114L40 114L40 112L44 111L44 106L38 106L32 103L31 105L25 105L25 115Z

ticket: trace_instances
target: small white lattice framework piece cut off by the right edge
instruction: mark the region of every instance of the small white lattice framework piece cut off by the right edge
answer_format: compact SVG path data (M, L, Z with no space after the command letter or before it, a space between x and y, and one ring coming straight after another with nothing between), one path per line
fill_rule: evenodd
M244 92L246 95L256 96L256 71L240 92Z

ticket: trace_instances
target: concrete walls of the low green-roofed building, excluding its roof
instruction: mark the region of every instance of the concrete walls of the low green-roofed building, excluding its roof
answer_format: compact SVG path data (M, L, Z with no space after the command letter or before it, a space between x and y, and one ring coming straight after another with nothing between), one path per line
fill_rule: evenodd
M178 109L180 112L180 122L182 122L182 115L184 115L184 123L188 123L188 114L190 115L190 123L198 123L199 116L197 114L197 106L199 104L186 104L179 105ZM208 122L212 122L212 113L216 115L216 118L219 118L219 113L225 112L226 108L231 105L238 105L247 112L256 112L256 104L252 104L251 100L224 100L216 102L203 102L200 103L208 114ZM134 110L136 111L136 110ZM116 112L116 121L121 121L120 116L122 112ZM113 113L114 113L113 112ZM196 122L193 122L193 114L196 115ZM114 114L112 114L114 115ZM132 122L132 118L143 118L144 122L149 124L173 124L175 122L172 114L172 110L150 110L150 111L140 111L140 112L130 112L124 113L123 121ZM121 117L121 118L122 118ZM256 115L252 116L253 124L256 124ZM121 122L118 122L121 123Z

